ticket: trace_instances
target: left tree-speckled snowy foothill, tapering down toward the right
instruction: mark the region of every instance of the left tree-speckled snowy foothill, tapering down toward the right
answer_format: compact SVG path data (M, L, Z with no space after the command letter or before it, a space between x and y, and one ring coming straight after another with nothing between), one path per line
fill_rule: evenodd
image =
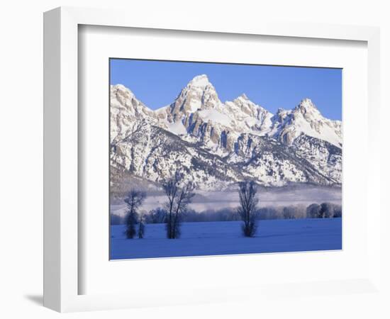
M172 172L184 171L186 179L204 189L222 189L245 178L218 155L147 121L138 122L128 130L126 138L111 143L111 165L157 182Z

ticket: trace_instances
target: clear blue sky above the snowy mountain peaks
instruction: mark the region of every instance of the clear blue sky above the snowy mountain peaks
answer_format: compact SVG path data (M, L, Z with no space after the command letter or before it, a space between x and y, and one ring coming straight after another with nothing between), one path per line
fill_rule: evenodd
M207 74L223 102L245 93L275 113L307 97L323 116L341 120L341 69L121 59L110 63L110 83L128 87L153 110L172 103L193 77Z

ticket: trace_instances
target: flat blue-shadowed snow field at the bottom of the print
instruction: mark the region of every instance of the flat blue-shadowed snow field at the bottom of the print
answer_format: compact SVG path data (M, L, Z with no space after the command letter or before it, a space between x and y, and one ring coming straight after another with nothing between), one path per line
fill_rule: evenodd
M183 223L182 237L168 240L164 224L148 224L145 238L127 240L111 226L111 259L182 257L260 252L341 250L342 219L260 220L256 237L241 235L240 222Z

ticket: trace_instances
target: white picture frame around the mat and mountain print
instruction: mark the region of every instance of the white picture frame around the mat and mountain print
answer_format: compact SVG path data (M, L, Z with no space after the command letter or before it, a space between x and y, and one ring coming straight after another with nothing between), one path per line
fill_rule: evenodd
M289 286L289 291L306 289L316 294L351 293L359 287L367 293L380 293L380 213L379 181L380 161L379 128L379 29L361 26L334 26L321 24L273 23L270 21L242 21L232 25L228 21L202 21L196 18L175 20L154 19L117 10L58 8L44 16L44 305L60 312L103 310L140 306L166 306L183 303L230 301L249 296L278 295L280 284L236 287L226 291L197 288L187 293L174 291L157 298L146 293L93 293L79 294L79 150L78 150L78 28L87 26L115 26L124 28L150 28L159 30L187 30L235 35L269 35L289 38L317 38L355 40L367 43L368 54L368 129L370 141L370 172L364 187L372 211L367 220L366 276L345 281L306 282ZM367 209L367 208L365 208ZM107 218L108 220L108 218ZM194 259L193 259L194 260ZM169 261L166 261L169 262ZM130 266L129 266L130 267ZM284 283L289 284L289 283ZM278 286L279 285L279 286ZM158 288L158 287L156 287ZM158 289L157 289L158 290Z

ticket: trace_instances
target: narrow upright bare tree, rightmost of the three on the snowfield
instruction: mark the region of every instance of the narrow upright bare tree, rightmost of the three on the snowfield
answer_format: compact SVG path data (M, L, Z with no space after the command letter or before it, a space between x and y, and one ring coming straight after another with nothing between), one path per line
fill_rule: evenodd
M254 181L242 181L238 184L240 207L238 213L243 220L243 235L253 237L257 230L257 186Z

